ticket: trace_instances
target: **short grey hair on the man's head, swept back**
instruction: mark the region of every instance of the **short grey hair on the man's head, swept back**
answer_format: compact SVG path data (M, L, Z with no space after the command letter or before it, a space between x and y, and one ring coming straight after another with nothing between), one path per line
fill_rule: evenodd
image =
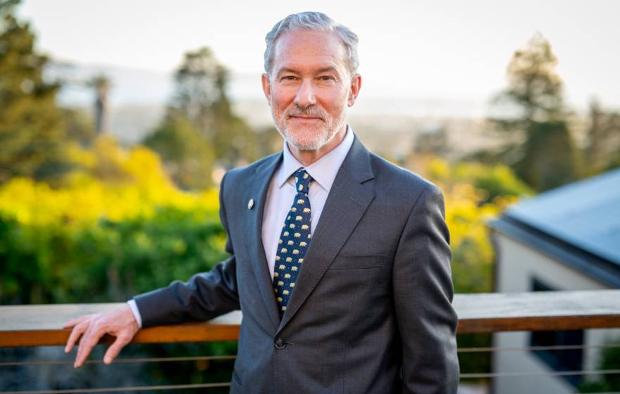
M278 40L278 37L295 29L309 29L330 33L335 32L349 53L347 59L349 63L349 72L351 75L357 74L357 67L359 66L359 58L357 58L357 34L349 30L348 27L336 23L324 13L306 11L288 15L286 18L276 23L273 29L271 29L271 32L267 33L265 37L265 41L267 42L267 48L265 49L265 72L267 75L271 73L273 46Z

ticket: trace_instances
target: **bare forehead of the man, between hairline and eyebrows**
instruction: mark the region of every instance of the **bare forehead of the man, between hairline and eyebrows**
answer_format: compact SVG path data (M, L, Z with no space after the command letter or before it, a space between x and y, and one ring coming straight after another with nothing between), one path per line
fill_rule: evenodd
M347 50L334 33L292 30L278 37L273 50L273 72L280 68L335 67L345 70Z

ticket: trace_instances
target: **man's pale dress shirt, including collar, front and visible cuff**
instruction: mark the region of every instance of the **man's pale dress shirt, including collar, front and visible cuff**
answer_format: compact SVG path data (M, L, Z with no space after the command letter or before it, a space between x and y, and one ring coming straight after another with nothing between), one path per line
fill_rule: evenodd
M349 153L353 145L353 139L353 131L347 125L345 138L342 139L342 142L308 167L304 167L302 163L299 163L299 160L294 158L286 141L284 142L283 161L271 178L267 190L265 210L263 211L261 238L272 280L273 269L275 267L275 254L278 249L280 233L282 232L282 224L292 206L295 195L297 195L295 180L291 175L299 170L299 168L303 168L313 179L313 181L310 182L308 198L311 209L310 233L314 234L314 229L321 217L321 212L323 212L325 201L332 188L336 174L338 170L340 170L342 162L345 161L347 153ZM142 327L142 317L140 317L140 311L135 301L129 300L128 304L131 307L138 325Z

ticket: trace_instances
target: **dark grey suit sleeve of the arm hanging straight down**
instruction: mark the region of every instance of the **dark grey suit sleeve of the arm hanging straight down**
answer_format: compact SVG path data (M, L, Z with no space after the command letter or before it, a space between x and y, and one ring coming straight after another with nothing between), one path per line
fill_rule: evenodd
M451 257L443 196L430 186L411 210L392 271L402 338L402 393L457 393Z

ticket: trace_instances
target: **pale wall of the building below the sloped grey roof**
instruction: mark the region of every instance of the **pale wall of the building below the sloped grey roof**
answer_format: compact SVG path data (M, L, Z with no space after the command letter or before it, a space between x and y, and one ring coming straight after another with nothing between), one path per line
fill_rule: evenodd
M581 272L529 246L495 233L497 266L496 291L515 293L531 291L534 278L557 290L595 290L608 288ZM587 330L584 345L597 345L610 338L620 338L620 331ZM530 345L529 332L495 333L493 345L497 348L526 348ZM585 350L584 369L597 369L600 350ZM493 371L496 373L529 372L542 374L552 369L529 351L495 352ZM574 393L576 388L558 376L507 376L493 381L495 394Z

